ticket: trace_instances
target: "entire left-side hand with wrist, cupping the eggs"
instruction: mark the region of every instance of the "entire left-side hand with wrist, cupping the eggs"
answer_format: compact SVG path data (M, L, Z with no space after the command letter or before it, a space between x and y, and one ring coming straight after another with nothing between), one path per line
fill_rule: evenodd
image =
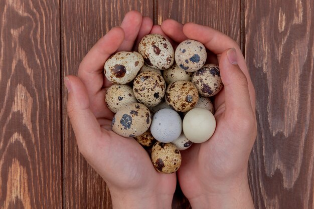
M113 113L105 104L112 84L103 66L116 51L130 51L152 29L152 21L135 11L111 29L82 60L78 77L67 76L67 111L81 154L106 181L114 208L170 208L176 173L157 172L149 155L133 138L111 130Z

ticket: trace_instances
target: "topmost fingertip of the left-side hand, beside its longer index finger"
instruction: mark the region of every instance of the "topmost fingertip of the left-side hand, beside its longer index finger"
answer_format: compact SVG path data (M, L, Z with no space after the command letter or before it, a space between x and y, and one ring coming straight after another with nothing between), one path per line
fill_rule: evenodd
M130 11L125 14L121 23L121 28L124 31L124 40L117 51L130 51L133 48L134 42L138 35L142 24L142 15L137 11Z

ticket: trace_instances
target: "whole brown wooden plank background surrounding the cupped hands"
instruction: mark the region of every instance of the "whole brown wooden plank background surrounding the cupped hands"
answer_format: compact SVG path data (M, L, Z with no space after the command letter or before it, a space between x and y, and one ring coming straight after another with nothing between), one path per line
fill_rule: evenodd
M0 0L0 208L111 208L78 152L63 77L130 10L239 43L257 96L255 207L314 208L314 0ZM190 208L180 189L173 208Z

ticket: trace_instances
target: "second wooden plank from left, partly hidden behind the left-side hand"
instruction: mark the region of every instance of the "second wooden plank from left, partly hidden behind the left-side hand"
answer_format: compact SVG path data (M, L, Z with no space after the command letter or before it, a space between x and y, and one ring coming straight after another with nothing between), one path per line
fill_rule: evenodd
M75 4L64 1L63 74L76 75L89 49L112 27L119 26L124 14L130 10L152 18L152 2L149 0L80 0ZM79 154L66 113L63 115L65 208L112 208L105 182Z

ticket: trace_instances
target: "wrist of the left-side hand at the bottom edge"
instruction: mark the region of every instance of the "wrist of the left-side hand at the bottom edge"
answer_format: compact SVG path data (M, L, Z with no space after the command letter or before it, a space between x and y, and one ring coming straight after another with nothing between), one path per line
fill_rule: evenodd
M153 191L115 191L110 189L112 208L171 209L173 194L158 194Z

